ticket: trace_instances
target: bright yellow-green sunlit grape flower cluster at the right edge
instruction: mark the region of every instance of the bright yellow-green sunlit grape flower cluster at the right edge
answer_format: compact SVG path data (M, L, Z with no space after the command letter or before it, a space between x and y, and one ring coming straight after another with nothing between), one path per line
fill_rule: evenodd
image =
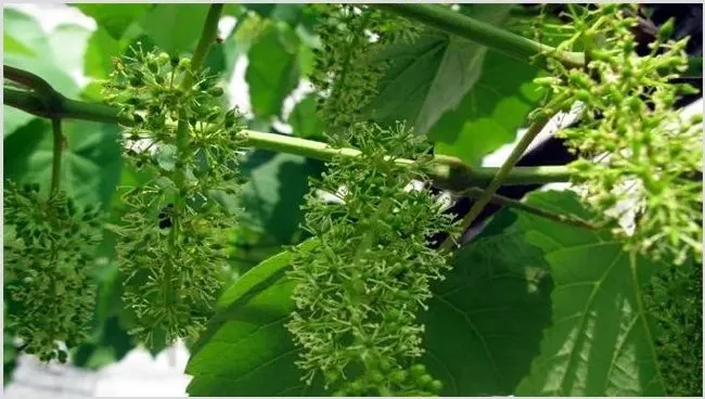
M553 77L537 81L552 93L550 112L575 101L582 107L581 123L559 137L580 154L571 167L586 203L604 221L620 217L615 206L632 203L639 215L633 234L627 227L614 232L633 249L676 263L702 259L702 115L683 120L674 108L680 95L697 92L672 82L687 68L687 39L668 40L667 23L651 53L639 56L634 8L572 9L575 33L557 50L585 49L586 67L552 63Z

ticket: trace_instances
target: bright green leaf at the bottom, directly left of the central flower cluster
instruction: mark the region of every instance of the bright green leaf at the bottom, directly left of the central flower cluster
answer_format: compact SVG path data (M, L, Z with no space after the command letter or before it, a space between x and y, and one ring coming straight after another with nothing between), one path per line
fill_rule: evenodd
M302 245L315 245L306 242ZM239 279L192 349L191 396L321 396L302 383L298 353L284 321L293 284L283 280L290 254L275 255Z

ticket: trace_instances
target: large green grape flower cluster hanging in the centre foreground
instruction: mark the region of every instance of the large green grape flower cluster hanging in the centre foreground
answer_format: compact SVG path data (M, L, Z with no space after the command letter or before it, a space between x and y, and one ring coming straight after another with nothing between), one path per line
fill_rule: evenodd
M427 182L428 147L403 125L355 125L333 141L362 155L332 160L315 185L339 201L324 203L316 190L307 197L304 227L319 245L294 249L292 261L296 310L287 326L304 349L298 365L308 382L323 372L338 395L437 394L440 382L412 364L423 353L415 316L450 267L428 240L453 230L428 191L410 189ZM400 157L418 167L396 164Z

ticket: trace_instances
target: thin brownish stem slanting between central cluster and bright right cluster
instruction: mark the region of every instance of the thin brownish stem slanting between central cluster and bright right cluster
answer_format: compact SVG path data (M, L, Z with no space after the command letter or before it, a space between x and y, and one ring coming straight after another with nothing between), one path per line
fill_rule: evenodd
M538 136L538 133L541 132L546 124L549 121L548 117L543 117L534 124L529 126L528 131L522 137L522 139L516 143L512 152L509 154L509 157L507 160L504 160L504 164L499 168L497 171L497 175L495 175L495 178L492 181L490 181L489 185L485 189L485 192L483 195L480 195L477 201L473 204L472 207L470 207L470 210L463 217L463 220L461 222L461 231L467 230L470 226L477 219L479 216L479 213L483 211L485 206L490 202L492 194L499 189L500 185L502 185L502 182L511 173L512 169L514 168L514 165L516 165L516 162L518 158L522 157L526 149L528 149L529 144L534 139ZM449 236L444 241L444 243L440 245L440 249L450 249L450 247L454 244L454 239L452 236Z

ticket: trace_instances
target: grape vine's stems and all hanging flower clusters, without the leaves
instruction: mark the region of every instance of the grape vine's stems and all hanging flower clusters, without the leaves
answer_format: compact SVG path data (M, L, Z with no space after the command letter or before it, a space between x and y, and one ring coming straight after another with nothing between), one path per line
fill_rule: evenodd
M280 327L289 334L289 348L296 349L295 370L304 384L320 381L336 396L441 395L447 382L424 364L420 316L433 298L433 284L451 271L459 236L490 202L599 237L608 229L630 259L640 254L672 263L656 274L644 300L665 314L665 335L654 339L662 351L657 360L679 363L679 346L702 322L693 317L702 304L692 300L702 286L683 281L702 272L691 263L702 262L703 120L702 115L684 119L675 110L680 96L698 90L675 82L690 66L688 39L670 39L672 21L657 30L651 52L639 55L638 10L630 4L567 5L563 17L571 23L556 28L555 47L540 42L540 35L529 40L452 7L308 7L317 15L311 30L322 43L308 76L325 126L321 142L247 130L245 117L227 105L220 76L204 66L211 44L227 42L217 36L223 4L208 8L189 55L148 41L116 54L102 81L102 103L67 99L31 73L3 68L12 81L4 88L5 104L50 119L54 139L47 181L8 180L3 186L5 321L21 350L65 362L89 336L98 296L95 257L106 229L117 235L120 306L133 321L136 340L155 348L213 339L210 321L223 317L216 303L232 279L228 235L239 222L223 198L238 201L243 159L257 149L325 163L302 207L300 229L312 245L286 248L291 265L281 273L293 286L285 298L291 306L282 308L293 310ZM536 22L542 26L546 20L541 11ZM526 21L515 25L526 26ZM393 62L377 55L428 28L548 73L535 80L544 98L522 115L528 129L502 166L471 167L434 154L433 143L408 121L373 123L370 104ZM578 123L554 134L577 160L516 167L553 117L576 108ZM105 222L101 204L78 206L81 198L62 185L67 118L118 124L123 159L149 176L144 183L117 188L123 214L115 224ZM582 220L496 194L502 185L548 182L571 182L591 210L586 215L597 217ZM474 203L465 215L450 215L432 188ZM627 211L636 214L631 226L623 222ZM438 234L447 239L433 242ZM631 272L638 280L638 271ZM681 293L687 307L669 296L679 289L688 292ZM641 301L641 292L637 295ZM687 325L675 327L681 322ZM670 387L697 365L690 358L685 363L663 373ZM693 391L692 385L682 391Z

